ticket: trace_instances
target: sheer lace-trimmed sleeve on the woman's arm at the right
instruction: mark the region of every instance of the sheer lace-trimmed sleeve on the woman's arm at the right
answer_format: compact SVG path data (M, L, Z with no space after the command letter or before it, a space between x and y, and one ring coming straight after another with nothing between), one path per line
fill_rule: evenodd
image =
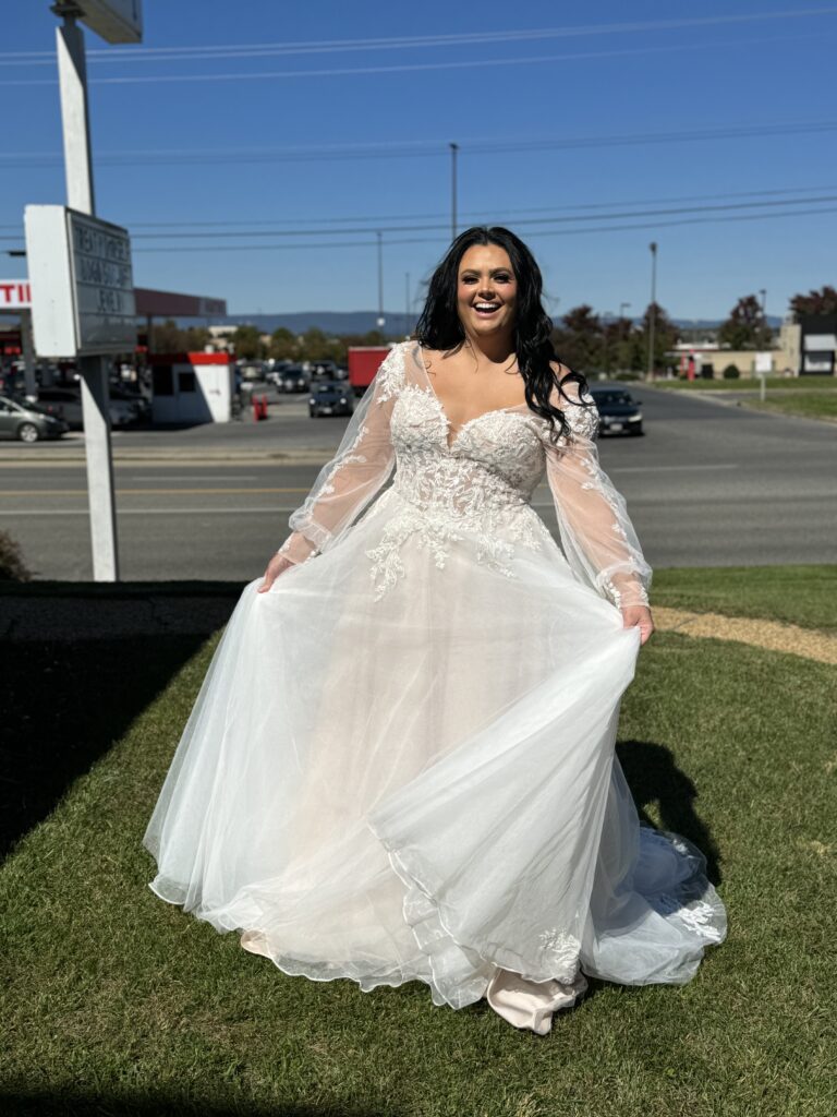
M599 465L598 411L595 404L583 408L566 400L559 407L573 435L557 446L547 441L547 480L567 562L580 581L615 605L647 604L652 570L625 498Z

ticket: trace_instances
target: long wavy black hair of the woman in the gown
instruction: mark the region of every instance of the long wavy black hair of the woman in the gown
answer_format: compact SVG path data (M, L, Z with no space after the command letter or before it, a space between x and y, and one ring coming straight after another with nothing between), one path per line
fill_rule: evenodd
M456 237L431 277L424 309L413 336L423 349L448 351L461 349L464 344L465 334L456 312L456 286L460 261L473 245L497 245L509 255L518 284L514 350L525 382L526 402L531 411L547 420L555 441L559 433L569 435L570 428L561 409L551 401L552 390L558 388L559 394L569 399L562 384L575 381L580 397L586 394L587 380L580 372L570 370L559 378L552 370L550 361L562 362L551 341L552 319L541 303L543 278L530 250L509 229L498 225L475 225Z

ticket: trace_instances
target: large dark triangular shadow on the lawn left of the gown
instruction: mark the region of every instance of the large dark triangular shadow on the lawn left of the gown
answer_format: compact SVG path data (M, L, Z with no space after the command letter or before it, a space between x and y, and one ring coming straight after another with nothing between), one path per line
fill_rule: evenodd
M229 617L238 589L202 591L190 583L3 586L1 596L16 621L11 638L0 646L0 857L50 813L68 786L165 689ZM119 615L126 609L133 615L143 609L152 614L150 603L163 599L165 619L156 631L150 623L147 632L119 636L118 622L113 622L117 610ZM186 608L187 617L182 615ZM102 619L106 636L96 638L92 617ZM38 631L45 630L44 639L31 638L32 623L26 638L16 639L16 626L23 629L32 620Z

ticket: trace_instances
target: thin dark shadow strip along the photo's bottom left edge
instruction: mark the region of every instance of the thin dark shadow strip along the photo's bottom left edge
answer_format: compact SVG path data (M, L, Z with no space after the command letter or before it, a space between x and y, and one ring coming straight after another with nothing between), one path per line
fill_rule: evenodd
M247 1097L230 1102L201 1098L177 1098L164 1094L108 1095L62 1091L20 1092L0 1090L0 1110L8 1117L166 1117L169 1114L195 1117L407 1117L401 1106L386 1109L339 1102L314 1105L264 1105Z

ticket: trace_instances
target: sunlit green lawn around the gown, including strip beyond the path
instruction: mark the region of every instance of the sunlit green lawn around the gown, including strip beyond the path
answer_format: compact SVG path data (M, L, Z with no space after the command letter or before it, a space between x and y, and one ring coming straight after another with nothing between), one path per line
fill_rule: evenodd
M789 570L749 583L741 572L680 572L680 584L660 572L656 596L689 608L735 600L812 620L815 583L834 580L835 570ZM737 598L724 590L730 577L739 577ZM288 977L246 954L234 935L220 936L152 895L142 833L213 643L185 662L185 649L174 648L172 663L182 666L167 686L158 674L143 677L154 671L150 648L133 658L128 649L144 705L127 726L125 694L112 699L102 687L113 650L74 649L78 685L67 697L64 733L55 725L54 747L84 736L76 714L94 695L118 739L103 745L0 869L0 1111L837 1110L835 669L675 633L657 633L643 649L623 701L619 755L646 818L710 856L730 935L691 984L594 983L540 1038L517 1032L484 1002L459 1012L434 1008L420 983L362 993L348 981ZM7 682L26 686L33 667L12 661ZM99 742L105 737L100 729Z

